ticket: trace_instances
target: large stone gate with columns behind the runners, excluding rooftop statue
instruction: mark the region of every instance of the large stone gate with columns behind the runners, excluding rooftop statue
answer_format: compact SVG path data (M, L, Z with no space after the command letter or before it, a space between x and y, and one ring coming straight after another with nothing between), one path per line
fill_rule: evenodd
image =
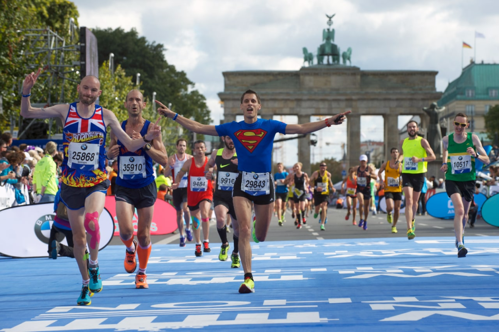
M358 165L361 155L361 115L383 116L384 155L388 160L390 148L399 144L398 116L420 115L421 127L425 128L429 119L423 107L442 96L435 88L436 71L361 70L336 64L312 65L297 71L229 71L223 75L225 87L219 97L224 104L225 122L235 121L236 115L242 114L240 98L247 89L260 95L259 115L263 119L295 115L302 124L310 122L311 116L351 110L346 121L346 167ZM309 139L298 140L298 160L310 173Z

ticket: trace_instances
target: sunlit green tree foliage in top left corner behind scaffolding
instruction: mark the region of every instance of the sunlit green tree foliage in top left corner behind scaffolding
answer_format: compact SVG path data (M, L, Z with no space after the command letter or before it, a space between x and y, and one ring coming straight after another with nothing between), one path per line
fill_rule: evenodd
M19 117L20 89L22 81L28 72L36 71L48 63L48 54L34 55L39 42L29 36L27 29L45 29L49 27L63 37L66 45L70 44L69 18L75 23L78 11L74 3L67 0L0 0L0 94L3 101L3 114L0 114L0 131L9 127L10 117ZM73 40L73 43L77 40ZM78 59L78 54L66 52L66 63ZM51 61L57 56L51 55ZM31 65L31 66L30 66ZM62 71L65 69L61 69ZM75 88L71 81L62 82L63 72L44 73L31 91L32 102L52 104L61 98L61 85L64 85L62 99L70 95L69 90ZM77 77L77 74L69 76ZM50 89L49 87L52 87ZM49 91L50 90L50 91ZM47 96L51 96L50 100ZM17 121L16 121L17 123Z

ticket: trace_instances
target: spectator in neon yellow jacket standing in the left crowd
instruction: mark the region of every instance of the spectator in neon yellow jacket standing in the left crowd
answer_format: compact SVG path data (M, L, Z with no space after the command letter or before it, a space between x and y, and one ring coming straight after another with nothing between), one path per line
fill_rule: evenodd
M53 156L57 155L57 144L48 142L45 156L36 164L33 176L34 203L53 202L59 188L57 164Z

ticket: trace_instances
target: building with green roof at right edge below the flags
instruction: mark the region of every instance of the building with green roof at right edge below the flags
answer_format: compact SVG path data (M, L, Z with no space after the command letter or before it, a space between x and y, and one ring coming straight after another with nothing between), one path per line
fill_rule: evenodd
M470 63L461 75L449 83L439 106L445 106L440 118L443 128L451 128L457 113L465 113L470 120L470 131L488 141L484 115L499 104L499 64Z

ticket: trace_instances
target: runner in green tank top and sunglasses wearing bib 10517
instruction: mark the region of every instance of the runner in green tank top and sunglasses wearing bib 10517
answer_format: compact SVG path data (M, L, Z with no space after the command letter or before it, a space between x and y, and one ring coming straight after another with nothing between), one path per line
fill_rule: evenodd
M440 170L445 172L445 190L454 205L454 233L458 257L466 257L464 227L468 222L468 211L475 194L477 172L475 161L478 159L488 165L482 142L477 135L466 133L470 126L468 116L458 113L454 117L454 133L442 140L444 163Z

